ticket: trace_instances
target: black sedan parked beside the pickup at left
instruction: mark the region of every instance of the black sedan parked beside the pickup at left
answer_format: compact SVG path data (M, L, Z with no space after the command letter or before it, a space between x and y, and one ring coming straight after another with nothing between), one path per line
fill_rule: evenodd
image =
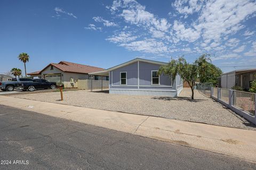
M56 87L56 82L49 82L44 79L34 79L33 82L22 83L23 90L28 91L34 91L36 89L55 89Z

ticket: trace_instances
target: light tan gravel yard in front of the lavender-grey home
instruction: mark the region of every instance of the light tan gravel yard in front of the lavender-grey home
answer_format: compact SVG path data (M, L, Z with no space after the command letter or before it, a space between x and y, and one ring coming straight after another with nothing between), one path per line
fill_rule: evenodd
M211 98L195 91L195 100L190 100L190 94L190 89L184 88L178 98L115 95L85 90L63 92L64 101L59 101L59 92L40 95L20 93L12 97L256 130L244 118Z

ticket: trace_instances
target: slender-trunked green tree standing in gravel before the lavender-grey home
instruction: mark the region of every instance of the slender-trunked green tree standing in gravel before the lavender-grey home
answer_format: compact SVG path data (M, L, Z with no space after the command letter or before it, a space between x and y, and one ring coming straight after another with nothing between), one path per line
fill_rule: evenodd
M178 60L171 60L167 65L163 65L159 68L158 74L166 74L172 79L175 79L177 74L187 81L192 91L191 99L194 99L194 85L198 78L198 68L196 64L189 64L183 57L179 57Z

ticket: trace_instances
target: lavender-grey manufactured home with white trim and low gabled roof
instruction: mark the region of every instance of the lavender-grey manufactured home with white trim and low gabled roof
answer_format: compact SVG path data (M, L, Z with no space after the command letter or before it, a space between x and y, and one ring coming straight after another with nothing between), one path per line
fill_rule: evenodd
M174 80L157 75L161 65L167 63L135 58L110 69L90 74L109 76L110 94L150 95L176 97L183 88L179 75Z

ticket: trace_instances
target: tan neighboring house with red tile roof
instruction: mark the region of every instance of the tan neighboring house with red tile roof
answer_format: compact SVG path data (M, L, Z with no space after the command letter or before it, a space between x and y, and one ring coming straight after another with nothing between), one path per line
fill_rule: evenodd
M31 78L42 78L47 81L57 82L57 84L64 84L66 88L77 88L77 80L95 79L95 80L107 80L107 77L99 77L91 75L90 72L103 71L105 69L94 67L90 65L76 64L61 61L58 64L51 63L47 65L43 70L28 73Z

